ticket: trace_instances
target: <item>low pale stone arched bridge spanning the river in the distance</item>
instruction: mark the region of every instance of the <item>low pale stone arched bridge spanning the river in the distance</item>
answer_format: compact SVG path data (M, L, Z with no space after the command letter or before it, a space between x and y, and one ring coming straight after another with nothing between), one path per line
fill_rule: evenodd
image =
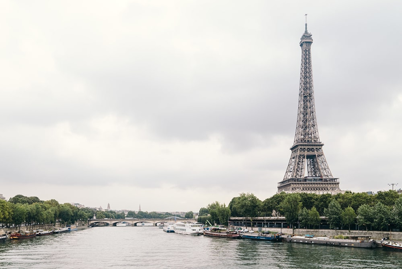
M111 225L116 226L119 222L129 223L132 226L144 226L147 223L151 223L152 226L163 225L165 222L176 222L176 221L183 221L183 222L196 222L195 219L183 219L179 217L168 217L166 219L92 219L88 221L88 225ZM142 225L144 224L144 225ZM147 225L149 226L149 225Z

